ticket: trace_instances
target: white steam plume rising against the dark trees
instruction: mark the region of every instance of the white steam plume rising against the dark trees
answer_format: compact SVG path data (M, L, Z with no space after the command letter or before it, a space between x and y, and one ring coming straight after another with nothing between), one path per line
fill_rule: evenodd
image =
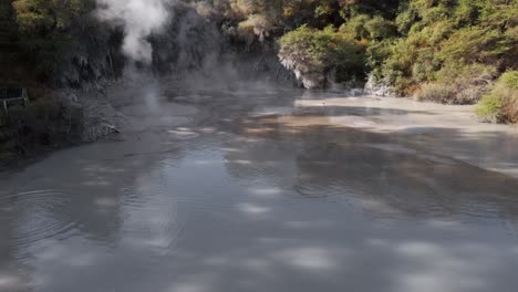
M168 19L167 3L175 0L96 0L100 19L124 28L123 53L138 62L151 63L153 48L147 41Z

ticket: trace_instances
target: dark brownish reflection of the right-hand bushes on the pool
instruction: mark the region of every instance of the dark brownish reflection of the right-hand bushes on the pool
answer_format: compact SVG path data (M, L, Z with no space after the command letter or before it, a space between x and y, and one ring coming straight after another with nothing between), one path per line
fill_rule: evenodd
M230 164L238 168L230 173L279 179L286 177L282 166L294 161L289 171L296 174L279 185L291 185L301 196L344 195L366 209L375 208L371 211L376 215L504 218L518 215L517 179L405 148L397 144L397 137L311 123L314 119L299 116L247 121L240 132L246 133L246 138L236 143L240 152L227 157L249 163ZM515 218L511 221L518 222Z

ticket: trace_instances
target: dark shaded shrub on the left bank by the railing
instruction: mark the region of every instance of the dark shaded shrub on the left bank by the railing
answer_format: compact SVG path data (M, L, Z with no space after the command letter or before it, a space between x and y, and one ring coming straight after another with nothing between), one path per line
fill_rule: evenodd
M0 159L80 139L83 111L58 97L41 98L0 115Z

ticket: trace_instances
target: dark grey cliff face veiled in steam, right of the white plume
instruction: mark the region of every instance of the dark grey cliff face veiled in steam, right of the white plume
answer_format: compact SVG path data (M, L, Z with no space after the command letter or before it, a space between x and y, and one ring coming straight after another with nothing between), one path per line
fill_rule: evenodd
M172 9L174 17L159 34L151 38L155 74L291 80L292 74L282 67L271 43L250 48L236 42L224 24L200 15L193 6L179 2Z

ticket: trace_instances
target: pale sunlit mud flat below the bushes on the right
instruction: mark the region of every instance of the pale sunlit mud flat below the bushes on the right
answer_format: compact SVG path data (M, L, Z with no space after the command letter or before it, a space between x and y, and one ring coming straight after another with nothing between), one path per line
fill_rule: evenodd
M479 123L474 106L442 105L395 97L302 97L303 118L291 123L353 127L400 137L413 150L452 157L518 177L518 127ZM325 112L325 116L311 113ZM333 114L333 111L338 114ZM401 150L401 149L394 149Z

